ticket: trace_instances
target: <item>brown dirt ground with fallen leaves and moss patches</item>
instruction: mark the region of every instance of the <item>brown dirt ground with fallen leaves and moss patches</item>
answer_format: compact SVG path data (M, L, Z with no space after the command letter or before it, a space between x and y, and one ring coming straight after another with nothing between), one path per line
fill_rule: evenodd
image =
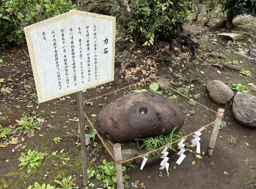
M256 20L253 21L254 24L255 22ZM200 19L198 23L200 23ZM238 27L235 30L251 32L254 36L256 31L253 24ZM226 126L223 130L219 130L211 158L206 157L206 150L212 131L212 127L208 127L200 136L200 155L202 159L195 157L195 148L190 148L193 152L185 152L186 157L184 161L178 165L176 163L178 155L174 154L169 160L169 177L165 170L159 170L160 160L154 166L148 167L146 165L143 170L140 170L139 166L136 169L129 169L126 174L131 177L128 180L131 189L134 188L131 183L134 183L136 180L141 184L138 185L138 188L143 188L144 185L144 188L147 189L256 188L255 182L253 182L253 180L255 181L254 173L256 173L255 128L245 128L234 120L231 112L232 102L226 105L216 105L209 99L206 92L206 84L212 80L223 81L230 88L233 88L232 84L237 83L242 85L248 83L256 84L256 59L246 54L251 46L248 39L251 38L253 40L253 38L244 34L242 39L232 46L227 45L228 40L217 38L218 32L193 38L200 43L200 50L197 54L197 59L192 62L188 61L190 52L186 47L183 49L182 46L177 46L180 49L180 53L176 55L163 54L161 50L155 47L136 47L133 49L133 52L128 52L125 48L119 48L121 42L117 40L114 81L88 89L83 93L84 99L89 100L128 86L125 74L119 73L120 62L117 60L121 59L130 62L126 69L127 73L130 74L131 84L143 81L143 79L146 80L149 77L148 73L154 68L157 69L158 79L168 81L172 88L189 88L189 94L200 96L196 100L197 102L214 111L217 111L218 108L225 109L223 120L226 122ZM239 43L246 43L247 46L239 50ZM227 50L230 49L233 51L227 54ZM208 54L212 50L222 52L227 55L227 59L210 58ZM243 51L246 57L242 55ZM54 179L57 175L63 174L66 177L72 175L73 178L76 178L74 181L76 186L82 188L81 152L80 147L75 144L77 142L75 135L78 132L76 95L71 94L64 98L61 97L38 104L37 97L34 94L36 89L27 46L22 45L1 50L0 58L3 59L4 64L6 63L5 66L0 67L0 78L4 78L6 81L3 86L13 89L11 95L0 95L1 126L10 127L15 131L15 126L17 127L16 120L20 120L23 116L35 116L45 121L45 123L42 123L42 130L35 130L34 136L30 138L27 134L18 131L14 132L11 138L18 137L18 143L16 144L10 143L11 138L7 140L0 139L0 143L8 144L7 147L0 148L0 188L26 189L29 185L33 185L34 182L54 185ZM245 76L239 71L227 67L217 69L211 65L202 65L203 63L221 64L228 61L238 61L236 65L240 68L245 68L245 70L250 70L253 74L252 77ZM171 70L168 66L171 67ZM142 70L146 70L146 74ZM142 82L140 86L136 85L94 100L89 100L93 102L93 105L85 103L84 112L89 116L92 123L95 123L93 114L98 115L104 104L132 93L134 89L148 89L148 84L149 82ZM166 96L175 95L183 111L193 110L195 112L193 115L185 113L185 124L181 129L182 132L190 134L214 121L214 112L200 105L189 105L188 99L169 89L162 91ZM256 92L251 91L251 94L256 95ZM87 124L89 125L89 123ZM86 133L90 134L89 127L86 128ZM227 138L230 138L230 136L237 139L233 147L227 142ZM53 139L55 137L61 137L61 142L54 143ZM192 139L191 137L187 140ZM90 170L96 170L95 165L101 165L103 159L112 161L105 149L99 146L102 145L97 137L94 142L87 146L87 163ZM31 173L27 173L26 168L19 170L18 166L20 154L29 149L48 154L42 160L41 166L33 169ZM51 155L54 151L60 152L62 149L64 149L63 157L71 159L65 165L61 163L60 159ZM96 161L92 162L95 158ZM59 165L53 166L52 159L59 161ZM192 165L193 161L195 161L194 165ZM48 176L45 177L45 174ZM98 181L95 176L89 179L89 181L95 184L94 187L89 188L103 188L103 182Z

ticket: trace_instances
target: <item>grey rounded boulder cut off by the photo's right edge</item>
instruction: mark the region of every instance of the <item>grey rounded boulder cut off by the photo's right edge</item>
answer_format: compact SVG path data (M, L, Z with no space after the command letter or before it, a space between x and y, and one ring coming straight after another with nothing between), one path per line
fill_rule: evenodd
M245 127L256 127L256 97L236 94L232 108L234 119Z

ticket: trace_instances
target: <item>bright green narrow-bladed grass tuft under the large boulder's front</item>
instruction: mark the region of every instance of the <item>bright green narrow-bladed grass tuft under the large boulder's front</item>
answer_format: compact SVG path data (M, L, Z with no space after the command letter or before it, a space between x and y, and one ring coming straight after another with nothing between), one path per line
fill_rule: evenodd
M158 135L155 137L148 137L143 139L135 139L137 142L138 148L142 148L145 146L145 151L150 152L157 148L160 148L162 146L165 146L166 144L172 143L180 138L182 138L182 134L185 134L184 132L176 131L177 127L175 127L170 134L167 135ZM142 145L140 146L140 143ZM189 144L186 143L186 146L189 146ZM175 144L171 144L169 148L176 152ZM159 154L159 151L156 151L157 154ZM154 154L154 152L153 152Z

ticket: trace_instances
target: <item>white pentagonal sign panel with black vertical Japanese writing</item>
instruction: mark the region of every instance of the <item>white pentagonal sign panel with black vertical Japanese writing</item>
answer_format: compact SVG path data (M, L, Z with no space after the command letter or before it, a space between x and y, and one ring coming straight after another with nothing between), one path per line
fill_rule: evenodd
M115 17L69 11L25 34L39 103L114 80Z

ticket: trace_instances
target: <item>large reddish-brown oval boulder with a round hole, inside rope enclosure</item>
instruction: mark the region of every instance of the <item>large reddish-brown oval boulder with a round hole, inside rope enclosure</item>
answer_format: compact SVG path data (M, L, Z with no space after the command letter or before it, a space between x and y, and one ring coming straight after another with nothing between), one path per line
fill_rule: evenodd
M180 107L155 92L120 97L103 107L96 119L99 134L113 142L168 134L183 123Z

